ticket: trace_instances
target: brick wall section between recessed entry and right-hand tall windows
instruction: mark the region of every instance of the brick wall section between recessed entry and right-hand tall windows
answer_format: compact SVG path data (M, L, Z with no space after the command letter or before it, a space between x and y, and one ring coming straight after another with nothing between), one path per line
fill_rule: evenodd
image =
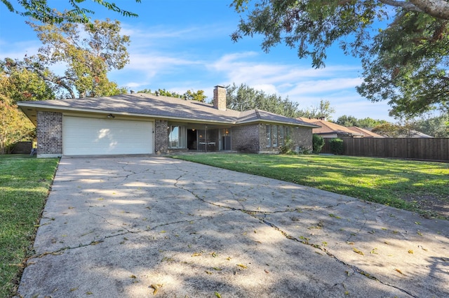
M260 129L258 124L232 127L231 144L233 151L259 152Z

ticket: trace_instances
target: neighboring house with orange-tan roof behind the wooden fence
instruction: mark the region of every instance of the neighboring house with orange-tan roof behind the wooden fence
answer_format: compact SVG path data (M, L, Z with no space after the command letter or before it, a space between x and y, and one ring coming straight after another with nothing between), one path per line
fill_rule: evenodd
M323 118L305 118L300 117L297 120L309 122L313 125L318 125L320 127L314 128L312 130L313 134L318 134L323 138L363 138L363 134L361 132L356 132L354 130L349 129L349 127L344 127L342 125L337 125L333 122L329 122L324 120Z

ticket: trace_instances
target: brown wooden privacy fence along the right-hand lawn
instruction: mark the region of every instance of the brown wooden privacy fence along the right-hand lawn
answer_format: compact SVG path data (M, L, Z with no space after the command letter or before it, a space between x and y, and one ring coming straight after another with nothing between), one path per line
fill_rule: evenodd
M449 161L449 138L340 138L343 155ZM331 153L329 141L321 153Z

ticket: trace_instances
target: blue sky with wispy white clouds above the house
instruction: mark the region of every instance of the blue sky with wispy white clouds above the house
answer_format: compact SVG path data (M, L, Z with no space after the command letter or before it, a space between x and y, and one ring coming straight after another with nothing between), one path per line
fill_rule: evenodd
M336 46L328 51L326 68L313 69L309 59L300 60L295 49L284 45L263 52L260 36L234 43L230 34L236 30L240 16L229 7L231 2L115 1L139 17L122 17L101 6L92 6L93 19L119 20L122 34L131 39L130 63L110 72L109 79L136 91L204 90L207 100L213 97L215 85L246 83L257 90L288 97L302 109L317 106L321 99L328 100L336 110L333 120L340 115L353 115L394 121L388 116L387 102L372 103L356 92L356 85L362 82L361 64L358 59L344 56ZM0 58L22 59L25 53L34 55L40 46L25 18L9 13L0 3Z

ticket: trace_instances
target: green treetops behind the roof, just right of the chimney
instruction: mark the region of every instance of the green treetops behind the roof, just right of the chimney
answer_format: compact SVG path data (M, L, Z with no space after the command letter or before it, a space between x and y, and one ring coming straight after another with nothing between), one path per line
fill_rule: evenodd
M282 99L276 94L265 94L262 90L255 90L246 84L237 86L235 83L226 87L227 108L236 111L258 109L284 115L290 118L298 116L299 104Z

